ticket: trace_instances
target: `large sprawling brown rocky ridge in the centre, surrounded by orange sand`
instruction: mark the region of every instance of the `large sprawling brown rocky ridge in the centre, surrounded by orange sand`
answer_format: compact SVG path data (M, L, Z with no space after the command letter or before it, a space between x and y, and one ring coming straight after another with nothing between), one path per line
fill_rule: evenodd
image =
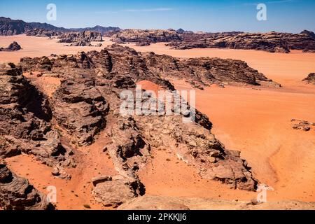
M137 171L151 159L153 148L172 148L200 175L227 183L231 188L254 190L257 181L239 152L225 149L213 134L211 122L199 111L193 123L183 123L183 113L174 116L123 116L123 90L135 91L140 80L174 90L165 78L185 78L200 85L235 80L256 85L270 80L246 63L222 59L186 59L136 52L111 45L101 52L79 52L55 58L24 58L25 71L42 71L58 76L62 85L52 97L52 116L78 144L90 144L104 129L111 143L106 145L120 179L98 179L94 193L104 205L116 207L127 198L145 193ZM49 65L49 66L48 66ZM155 66L153 66L155 65ZM182 73L182 74L181 74ZM234 78L234 79L233 79ZM272 82L270 82L272 83ZM105 181L105 182L104 182ZM102 186L102 187L101 187ZM132 186L132 188L130 188ZM116 188L123 194L116 197ZM108 191L113 194L109 195Z

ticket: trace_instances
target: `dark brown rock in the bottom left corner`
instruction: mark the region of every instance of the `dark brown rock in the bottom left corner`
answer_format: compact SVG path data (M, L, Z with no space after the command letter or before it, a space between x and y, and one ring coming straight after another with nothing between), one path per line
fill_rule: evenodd
M54 209L27 179L16 176L0 162L0 207L5 210Z

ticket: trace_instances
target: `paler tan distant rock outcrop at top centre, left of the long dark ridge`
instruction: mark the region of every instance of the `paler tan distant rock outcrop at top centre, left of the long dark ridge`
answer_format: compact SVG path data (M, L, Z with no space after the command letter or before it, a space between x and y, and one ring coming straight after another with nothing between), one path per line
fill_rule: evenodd
M181 41L179 34L174 29L124 29L111 36L116 43L138 43L149 45L150 43Z

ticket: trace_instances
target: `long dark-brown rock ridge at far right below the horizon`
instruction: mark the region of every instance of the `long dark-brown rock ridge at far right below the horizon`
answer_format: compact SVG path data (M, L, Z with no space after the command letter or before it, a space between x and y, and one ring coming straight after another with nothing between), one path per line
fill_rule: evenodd
M182 41L168 45L175 49L191 48L232 48L245 50L264 50L268 52L290 52L290 50L315 50L315 39L309 34L288 34L269 32L183 34Z

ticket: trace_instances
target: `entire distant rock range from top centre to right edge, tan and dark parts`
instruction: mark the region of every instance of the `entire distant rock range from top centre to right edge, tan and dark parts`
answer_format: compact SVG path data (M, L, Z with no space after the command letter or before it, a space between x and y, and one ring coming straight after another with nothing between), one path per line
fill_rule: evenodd
M157 42L170 42L167 45L174 49L191 48L231 48L244 50L264 50L268 52L288 53L290 50L315 50L314 33L302 31L301 34L269 32L242 33L193 33L174 30L140 30L126 29L113 34L116 43L137 43L148 45Z

